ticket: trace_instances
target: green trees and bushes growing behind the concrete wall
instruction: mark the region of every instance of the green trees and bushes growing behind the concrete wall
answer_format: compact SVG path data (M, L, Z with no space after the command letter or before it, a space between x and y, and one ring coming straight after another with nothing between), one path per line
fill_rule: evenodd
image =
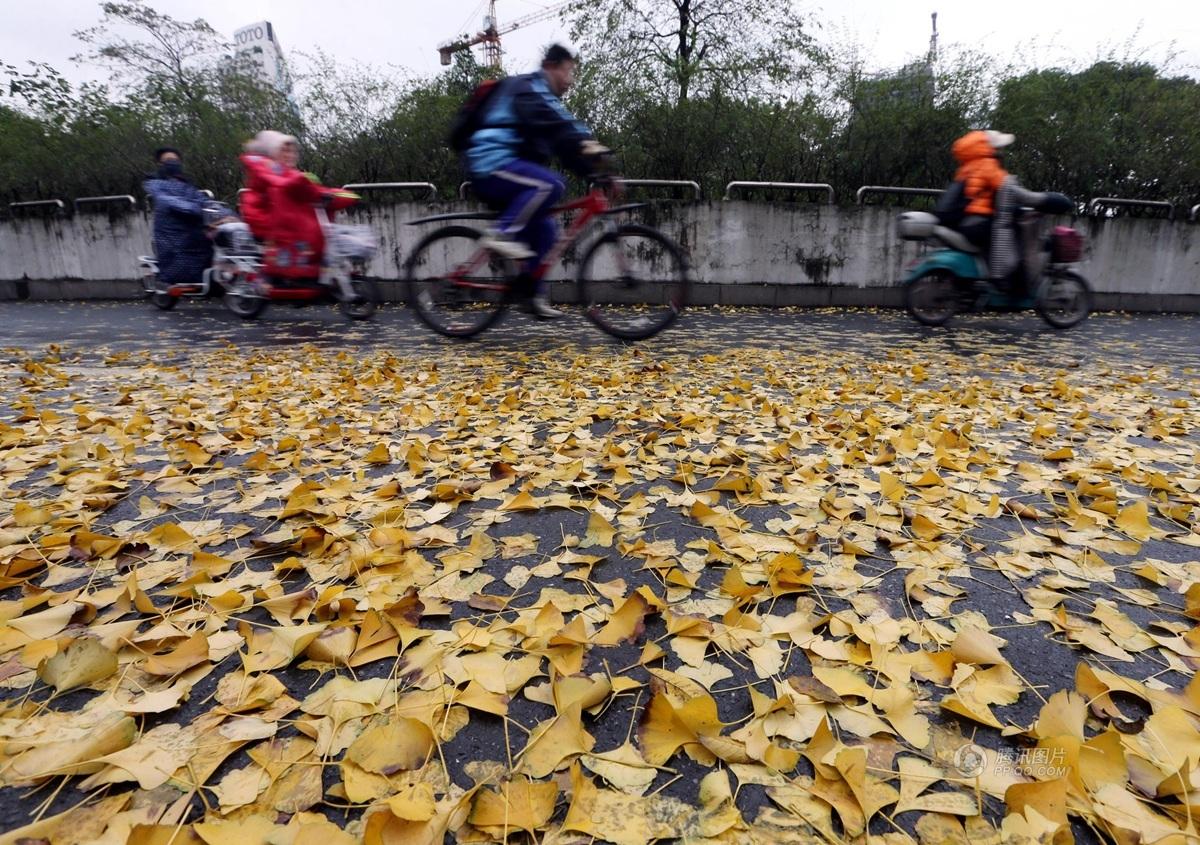
M236 155L262 128L300 137L304 166L334 184L461 176L444 137L484 78L469 52L427 78L289 56L295 95L259 83L204 20L103 2L78 35L110 84L0 65L0 198L140 193L150 151L173 143L203 187L232 198ZM1200 84L1138 58L1012 70L949 49L877 72L821 42L773 0L590 0L571 13L584 62L569 104L630 176L940 186L972 127L1014 132L1009 169L1079 198L1200 197Z

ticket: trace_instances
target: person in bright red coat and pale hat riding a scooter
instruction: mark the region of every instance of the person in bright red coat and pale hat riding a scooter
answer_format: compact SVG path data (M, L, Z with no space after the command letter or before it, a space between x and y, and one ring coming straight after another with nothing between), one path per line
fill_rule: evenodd
M300 170L300 145L282 132L259 132L241 162L250 188L242 194L241 211L254 236L266 244L266 275L293 282L317 281L325 251L317 209L332 216L353 205L358 196L324 187L316 176Z

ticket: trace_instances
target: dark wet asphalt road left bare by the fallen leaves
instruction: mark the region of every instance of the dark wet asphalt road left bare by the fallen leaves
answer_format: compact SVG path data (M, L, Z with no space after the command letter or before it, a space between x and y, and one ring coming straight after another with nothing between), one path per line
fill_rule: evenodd
M272 306L254 323L246 323L229 314L217 304L184 304L174 312L160 312L146 304L130 302L37 302L0 304L0 366L10 365L52 344L61 352L65 361L89 366L102 361L113 353L132 353L132 360L142 356L158 362L180 362L203 366L204 355L210 350L228 349L230 346L246 353L254 350L278 352L293 347L313 346L329 350L330 355L344 353L355 360L370 355L390 354L406 360L428 361L431 365L470 355L486 361L494 356L492 366L512 367L512 355L520 353L551 353L551 359L563 360L578 355L590 355L598 370L616 355L629 354L622 344L607 338L587 323L578 313L556 323L539 323L523 314L510 314L493 331L470 342L454 342L432 335L402 307L385 307L370 323L348 323L334 308L326 306L292 308ZM900 312L887 311L762 311L750 308L701 310L685 314L671 330L658 338L638 344L632 354L648 364L670 360L685 367L689 358L727 352L754 349L770 350L772 354L794 353L805 360L820 360L823 352L836 354L840 361L847 356L877 360L901 353L913 360L923 358L954 361L964 374L976 372L979 361L986 360L989 372L1009 372L1021 378L1028 366L1062 368L1063 372L1096 371L1106 373L1157 372L1162 385L1158 395L1164 407L1180 396L1194 395L1189 391L1200 385L1200 318L1174 316L1126 316L1097 314L1084 325L1070 331L1055 331L1045 326L1033 314L978 314L959 319L953 326L930 330L912 323ZM7 359L7 360L5 360ZM731 376L756 377L752 356L737 359L744 368ZM998 364L997 364L998 360ZM248 364L247 366L252 366ZM488 366L486 362L480 368ZM520 378L514 371L514 378ZM947 379L954 371L938 373ZM0 382L8 386L7 395L0 395L0 420L11 420L16 410L13 402L19 398L16 379ZM1193 400L1195 401L1195 400ZM1184 437L1200 450L1200 432ZM1016 448L1024 448L1018 444ZM130 505L132 509L132 505ZM133 511L136 513L136 511ZM672 522L670 513L656 528L661 539L676 540L679 547L702 535L695 525ZM764 508L752 521L763 525L784 515L781 509ZM126 519L121 508L114 509L112 519ZM541 538L559 538L564 533L582 533L587 523L586 514L571 511L539 511L523 517L522 532ZM1015 520L995 520L988 529L974 535L986 550L1016 529ZM989 532L991 532L989 534ZM1200 550L1178 544L1148 541L1142 556L1182 564L1198 564ZM493 561L486 564L488 574L503 577L505 570L520 561ZM899 603L904 595L904 575L893 570L882 575L876 588L881 597L890 597ZM647 583L660 585L642 571L623 570L620 561L608 561L594 571L594 577L624 577L631 587ZM503 585L502 585L503 586ZM1145 587L1129 573L1122 571L1117 586ZM1100 592L1104 592L1103 588ZM1043 690L1073 689L1074 671L1079 651L1062 642L1048 639L1046 625L1013 625L1014 612L1027 612L1028 607L1013 585L1000 573L976 571L976 581L970 585L970 598L956 605L956 610L970 607L988 617L994 625L1003 628L1009 645L1006 655L1026 673L1028 683ZM1111 593L1111 591L1109 591ZM0 595L0 598L11 598ZM1093 597L1094 598L1094 597ZM848 606L835 600L836 606ZM1084 605L1080 605L1084 607ZM1076 609L1078 610L1078 609ZM1136 609L1124 609L1130 618L1141 624L1152 618L1150 611L1139 616ZM662 636L661 621L648 623L646 640ZM606 653L612 666L636 664L638 647L628 646ZM359 677L371 677L372 666ZM390 666L377 667L378 672L390 671ZM803 657L788 667L792 673L804 673ZM594 670L593 670L594 671ZM1139 660L1123 665L1122 671L1130 677L1148 677L1162 672L1162 666ZM305 688L311 678L299 670L290 670L296 685ZM217 676L210 676L193 690L191 702L181 711L169 714L173 720L186 721L198 712L215 687ZM730 684L754 681L752 675L737 675ZM1172 684L1181 684L1178 678ZM290 683L289 683L290 685ZM86 694L71 694L79 700ZM733 696L721 700L721 717L730 721L740 718L744 702ZM1010 707L997 708L1003 719L1028 724L1036 717L1040 702L1034 696ZM59 700L56 708L70 706L70 700ZM535 724L544 718L539 706L516 699L510 718L522 724ZM629 730L630 713L612 708L605 717L589 724L588 729L598 739L599 748L619 744ZM997 737L980 737L979 742L995 744ZM503 759L503 723L498 719L473 717L470 727L462 731L445 754L450 761L470 759ZM223 771L245 763L239 754L226 763ZM695 784L707 769L689 760L678 757L672 762L683 775L666 786L667 795L686 801L695 799ZM456 767L451 765L451 769ZM461 768L458 769L461 771ZM330 769L330 777L334 769ZM217 774L217 778L221 773ZM215 779L214 779L215 780ZM328 786L329 784L326 784ZM464 784L466 785L466 784ZM65 808L80 798L78 792L66 789L54 802ZM755 808L767 803L762 790L749 787L738 796L738 804L748 817ZM996 808L991 808L996 811ZM26 808L13 790L0 792L0 829L8 829L24 820ZM331 817L338 819L340 815ZM1090 832L1076 828L1080 840L1090 839Z

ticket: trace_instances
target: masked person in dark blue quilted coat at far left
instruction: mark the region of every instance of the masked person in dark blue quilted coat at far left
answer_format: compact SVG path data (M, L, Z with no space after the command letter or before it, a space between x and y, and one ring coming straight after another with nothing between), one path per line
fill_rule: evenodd
M209 200L184 175L179 150L155 150L157 172L143 182L154 202L154 251L158 258L158 281L166 284L199 284L212 263L212 241L204 226L204 204Z

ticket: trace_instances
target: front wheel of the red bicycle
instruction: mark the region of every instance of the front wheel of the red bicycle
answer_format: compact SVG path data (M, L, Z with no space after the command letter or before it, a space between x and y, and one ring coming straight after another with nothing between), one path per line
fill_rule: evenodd
M576 281L588 319L613 337L640 341L671 325L688 305L691 272L674 241L626 223L588 247Z

